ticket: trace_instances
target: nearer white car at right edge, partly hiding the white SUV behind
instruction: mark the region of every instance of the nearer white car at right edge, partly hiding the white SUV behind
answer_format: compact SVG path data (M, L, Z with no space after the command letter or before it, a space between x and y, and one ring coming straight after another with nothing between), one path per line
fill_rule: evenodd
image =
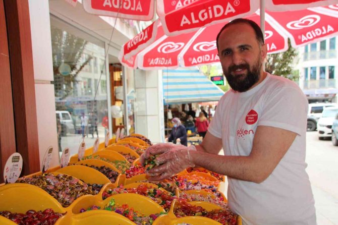
M319 140L332 136L332 124L337 113L338 107L327 107L323 110L317 123Z

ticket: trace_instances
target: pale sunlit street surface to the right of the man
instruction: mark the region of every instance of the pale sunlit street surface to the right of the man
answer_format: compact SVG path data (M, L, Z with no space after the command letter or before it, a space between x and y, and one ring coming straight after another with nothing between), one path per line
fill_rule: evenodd
M307 132L306 162L318 225L338 225L338 146Z

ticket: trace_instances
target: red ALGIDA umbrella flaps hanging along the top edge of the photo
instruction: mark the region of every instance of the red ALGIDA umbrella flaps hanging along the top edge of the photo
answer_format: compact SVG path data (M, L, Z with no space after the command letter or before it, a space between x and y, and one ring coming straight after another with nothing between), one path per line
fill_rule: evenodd
M68 0L69 1L69 0ZM82 0L91 14L149 21L154 18L154 0ZM338 0L264 0L268 11L302 10L337 4ZM252 15L257 0L157 0L157 15L166 35L193 32L200 27Z

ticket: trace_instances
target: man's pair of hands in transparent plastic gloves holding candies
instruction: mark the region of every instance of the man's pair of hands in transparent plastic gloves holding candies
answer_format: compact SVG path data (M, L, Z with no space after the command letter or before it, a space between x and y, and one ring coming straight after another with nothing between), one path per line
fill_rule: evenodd
M150 154L160 155L155 159L156 164L159 165L147 171L147 174L150 175L148 180L161 181L180 173L189 166L195 166L190 152L192 150L196 150L193 145L188 148L183 145L168 143L161 143L149 147L146 152L141 155L141 163L144 163L144 159L142 158L149 158Z

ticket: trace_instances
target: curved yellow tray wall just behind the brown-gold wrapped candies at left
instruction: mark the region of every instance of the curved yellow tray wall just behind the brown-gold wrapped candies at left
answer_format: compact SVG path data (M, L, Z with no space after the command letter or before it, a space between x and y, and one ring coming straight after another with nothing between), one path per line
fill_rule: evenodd
M78 178L87 184L110 183L109 179L102 173L85 165L69 165L60 168L57 172Z

